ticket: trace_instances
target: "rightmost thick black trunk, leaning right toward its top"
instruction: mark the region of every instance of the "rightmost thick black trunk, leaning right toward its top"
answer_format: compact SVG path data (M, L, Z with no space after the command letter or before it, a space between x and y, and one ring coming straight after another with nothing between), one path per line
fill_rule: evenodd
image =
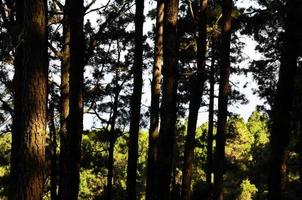
M269 176L268 199L282 199L286 186L286 161L290 133L290 112L293 102L293 89L297 71L299 50L299 16L298 0L288 1L286 5L284 46L281 55L279 81L273 106L271 129L271 170ZM300 14L301 15L301 14Z

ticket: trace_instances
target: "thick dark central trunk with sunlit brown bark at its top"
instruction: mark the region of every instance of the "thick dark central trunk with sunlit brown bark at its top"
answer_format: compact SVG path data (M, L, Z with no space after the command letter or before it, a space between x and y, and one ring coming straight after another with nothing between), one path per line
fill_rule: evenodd
M178 0L165 1L164 13L164 65L163 97L159 132L157 194L160 200L171 198L170 183L173 169L173 154L176 125L176 94L178 73L177 41Z

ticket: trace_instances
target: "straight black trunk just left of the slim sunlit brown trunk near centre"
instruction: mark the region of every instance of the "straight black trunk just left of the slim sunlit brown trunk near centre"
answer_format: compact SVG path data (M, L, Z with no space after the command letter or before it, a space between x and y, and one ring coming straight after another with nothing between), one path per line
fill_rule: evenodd
M135 1L135 55L133 65L133 93L131 96L130 139L127 166L127 195L128 199L136 199L136 168L138 159L138 132L140 123L140 108L143 84L143 23L144 0Z

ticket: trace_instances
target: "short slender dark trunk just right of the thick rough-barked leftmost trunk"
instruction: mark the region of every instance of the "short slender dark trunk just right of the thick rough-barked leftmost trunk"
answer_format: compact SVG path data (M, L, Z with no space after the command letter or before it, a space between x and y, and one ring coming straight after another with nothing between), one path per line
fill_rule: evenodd
M55 126L55 99L54 99L54 89L53 85L49 87L50 93L52 93L52 99L49 103L48 108L48 127L50 135L50 197L52 200L58 199L57 197L57 131Z

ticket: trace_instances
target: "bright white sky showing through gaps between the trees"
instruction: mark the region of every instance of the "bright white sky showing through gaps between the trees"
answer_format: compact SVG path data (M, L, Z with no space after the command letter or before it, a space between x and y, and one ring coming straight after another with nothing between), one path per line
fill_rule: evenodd
M93 8L96 8L97 6L100 6L100 4L107 3L108 0L98 0ZM237 1L236 5L239 7L247 7L249 5L254 5L252 3L252 0L241 0ZM154 8L156 6L156 3L153 1L153 3L149 3L148 0L145 0L145 14L148 13L148 10L151 8ZM92 12L88 16L86 16L86 19L89 19L92 24L96 24L96 13ZM146 34L148 31L152 29L152 26L154 25L155 21L146 20L144 23L144 34ZM255 50L256 42L253 41L251 38L247 36L240 37L241 40L246 44L243 48L243 55L245 56L245 60L240 63L240 68L246 68L249 65L249 62L258 59L261 55L257 54ZM150 41L149 41L150 42ZM144 105L150 105L150 84L149 84L149 75L144 76L144 87L143 87L143 96L142 96L142 103ZM255 81L253 81L252 76L249 74L248 76L245 75L234 75L231 74L230 81L234 84L232 84L232 87L236 87L237 90L239 90L241 93L245 94L246 98L248 99L249 103L245 105L236 104L229 106L228 110L232 113L240 114L244 120L248 120L248 117L251 115L251 113L256 109L257 105L263 104L263 100L261 100L257 95L253 94L253 89L257 88L257 84ZM248 84L246 84L248 82ZM215 88L216 93L218 92L218 86L216 85ZM216 99L216 109L217 109L217 99ZM198 116L198 125L201 125L204 122L207 122L208 120L208 112L207 107L201 107L199 110L199 116ZM97 124L95 124L96 127ZM93 116L85 114L84 115L84 129L90 129L93 126Z

